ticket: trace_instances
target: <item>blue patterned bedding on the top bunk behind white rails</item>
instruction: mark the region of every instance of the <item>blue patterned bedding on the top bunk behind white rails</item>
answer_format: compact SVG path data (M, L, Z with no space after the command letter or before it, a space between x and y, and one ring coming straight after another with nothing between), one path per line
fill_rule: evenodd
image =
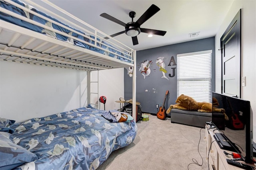
M91 37L91 38L94 39L95 38L94 36L85 34L82 31L74 29L74 28L70 27L69 25L66 25L66 24L64 24L64 23L62 23L62 22L52 18L51 16L48 16L48 15L46 15L46 14L36 10L35 8L24 4L23 2L20 2L18 0L12 0L12 1L14 1L14 2L16 2L16 3L18 3L18 4L22 5L22 6L30 9L33 12L36 12L38 14L42 14L43 16L45 16L47 18L50 18L51 20L54 20L54 21L56 21L56 22L58 22L58 23L60 23L62 25L65 25L66 27L69 27L72 30L78 31L79 33L82 33L85 36L83 37L83 36L81 36L81 35L79 35L77 33L74 33L74 32L72 32L72 31L70 31L68 29L65 29L64 27L60 27L60 26L58 26L58 25L56 25L54 23L51 23L50 21L46 21L46 20L44 20L44 19L42 19L42 18L40 18L38 16L30 14L30 13L28 13L28 12L26 12L26 11L16 7L16 6L13 6L12 4L4 2L4 0L0 0L0 6L2 8L7 9L7 10L15 12L16 14L19 14L19 15L24 16L26 18L29 18L31 20L37 21L38 23L42 23L42 24L44 24L44 25L46 25L48 27L52 27L52 28L54 28L54 29L56 29L58 31L62 31L63 33L67 33L69 35L77 37L78 39L81 39L81 40L86 41L88 43L94 44L94 41L92 41L91 39L86 38L86 36L87 36L87 37ZM70 37L66 37L66 36L60 35L58 33L54 33L53 31L50 31L48 29L44 29L44 28L36 26L36 25L33 25L33 24L28 23L26 21L22 21L22 20L20 20L18 18L14 18L12 16L4 14L3 12L0 12L0 19L4 20L4 21L8 21L8 22L16 24L16 25L19 25L21 27L25 27L27 29L30 29L30 30L33 30L33 31L36 31L36 32L39 32L39 33L46 34L48 36L54 37L54 38L62 40L62 41L67 41L67 42L72 43L72 44L74 44L76 46L83 47L83 48L86 48L86 49L90 49L92 51L96 51L98 53L101 53L101 54L104 54L104 55L116 58L116 59L118 59L120 61L125 61L125 62L128 62L128 63L133 63L132 61L130 61L130 60L126 59L126 58L118 56L118 55L121 55L121 56L124 56L124 57L127 57L127 58L131 59L131 57L129 57L128 55L125 55L124 53L121 53L121 52L117 51L115 47L112 47L111 45L109 45L105 41L102 41L102 44L100 44L100 43L96 43L96 44L97 44L98 47L101 47L103 49L108 49L109 51L111 51L111 52L113 52L115 54L118 54L118 55L114 55L113 53L105 52L105 51L103 51L101 49L98 49L96 47L92 47L92 46L90 46L88 44L82 43L82 42L77 41L75 39L71 39ZM100 41L100 39L97 39L97 40ZM107 47L106 45L111 46L111 48Z

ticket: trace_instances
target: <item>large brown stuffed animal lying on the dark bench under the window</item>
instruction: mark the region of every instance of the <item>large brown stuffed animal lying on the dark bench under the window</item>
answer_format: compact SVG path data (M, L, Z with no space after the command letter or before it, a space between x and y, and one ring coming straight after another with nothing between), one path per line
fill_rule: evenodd
M212 107L212 104L214 107ZM180 95L177 100L176 104L170 105L167 109L166 113L169 114L171 109L183 109L183 110L197 110L198 112L220 112L225 115L225 119L228 120L228 116L225 113L225 109L218 108L219 106L218 100L216 98L212 99L212 104L208 102L196 102L190 96L186 96L184 94Z

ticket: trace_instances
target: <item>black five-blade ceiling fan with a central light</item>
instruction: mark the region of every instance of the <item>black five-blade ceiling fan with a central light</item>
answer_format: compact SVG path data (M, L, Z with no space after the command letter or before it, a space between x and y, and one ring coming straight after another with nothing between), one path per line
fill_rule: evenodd
M149 18L151 18L159 10L160 10L160 8L158 8L156 5L152 4L148 8L148 10L146 10L146 12L144 12L144 14L142 14L142 16L136 22L133 21L133 18L136 16L136 13L134 11L131 11L131 12L129 12L129 16L130 16L130 18L132 18L132 21L128 22L128 23L124 23L106 13L100 14L100 16L125 27L124 31L110 35L110 37L115 37L117 35L125 33L126 35L132 37L133 45L137 45L137 44L139 44L137 35L139 35L141 32L154 34L154 35L162 35L162 36L165 35L166 31L160 31L160 30L147 29L147 28L140 27L140 25L142 25L144 22L146 22ZM108 39L108 37L105 37L105 39Z

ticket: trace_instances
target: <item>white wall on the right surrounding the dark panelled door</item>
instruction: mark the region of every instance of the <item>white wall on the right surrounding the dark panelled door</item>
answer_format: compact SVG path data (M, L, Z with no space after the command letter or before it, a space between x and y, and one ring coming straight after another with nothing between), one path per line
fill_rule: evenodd
M242 62L241 76L246 76L246 86L241 86L241 98L250 101L253 111L253 138L256 142L256 1L234 0L215 36L216 92L221 92L220 38L238 10L242 9Z

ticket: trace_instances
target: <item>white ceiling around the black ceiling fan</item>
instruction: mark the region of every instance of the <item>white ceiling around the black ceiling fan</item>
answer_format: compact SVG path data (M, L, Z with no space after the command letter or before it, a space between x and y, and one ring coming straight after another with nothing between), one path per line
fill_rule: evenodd
M128 23L129 12L136 12L134 21L152 5L160 11L141 25L142 28L167 31L164 36L138 35L138 45L125 33L115 37L125 45L138 50L176 44L216 35L224 17L234 0L50 0L70 14L80 18L108 35L124 31L124 27L100 17L106 13ZM189 33L200 32L198 37L189 38Z

